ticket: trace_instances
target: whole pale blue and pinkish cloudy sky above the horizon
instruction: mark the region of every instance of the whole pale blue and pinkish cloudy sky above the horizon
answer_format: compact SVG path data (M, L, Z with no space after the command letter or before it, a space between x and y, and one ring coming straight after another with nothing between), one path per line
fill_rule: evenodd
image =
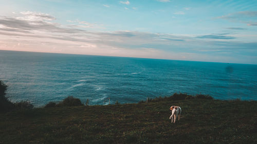
M257 1L0 0L0 50L257 64Z

